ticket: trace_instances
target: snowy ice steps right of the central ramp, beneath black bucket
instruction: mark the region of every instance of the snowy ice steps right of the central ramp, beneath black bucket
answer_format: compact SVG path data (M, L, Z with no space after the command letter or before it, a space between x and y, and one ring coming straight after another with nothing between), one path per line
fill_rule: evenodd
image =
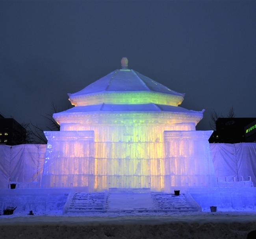
M200 212L202 210L188 193L175 196L173 193L152 192L151 196L159 212Z

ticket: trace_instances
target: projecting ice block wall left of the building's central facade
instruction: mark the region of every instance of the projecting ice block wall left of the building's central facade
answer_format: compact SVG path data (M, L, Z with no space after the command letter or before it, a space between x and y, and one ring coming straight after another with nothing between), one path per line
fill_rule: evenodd
M41 185L94 188L93 131L45 131L48 140Z

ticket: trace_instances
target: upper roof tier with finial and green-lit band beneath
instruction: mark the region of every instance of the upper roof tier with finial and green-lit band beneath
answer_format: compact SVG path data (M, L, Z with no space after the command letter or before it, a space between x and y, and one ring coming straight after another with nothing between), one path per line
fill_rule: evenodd
M184 94L173 91L137 71L127 69L127 58L122 58L121 63L122 69L112 71L108 75L96 80L89 86L76 93L68 94L72 104L75 106L85 106L100 103L156 103L173 106L178 106L181 104ZM122 101L120 99L120 94L122 94L124 98L127 96L128 99ZM141 102L141 99L143 98L141 97L141 94L147 98L143 102ZM99 95L102 98L100 101ZM118 95L118 99L114 99L115 95ZM158 98L158 102L155 100L153 100L153 102L150 101L153 96ZM164 100L161 101L161 98Z

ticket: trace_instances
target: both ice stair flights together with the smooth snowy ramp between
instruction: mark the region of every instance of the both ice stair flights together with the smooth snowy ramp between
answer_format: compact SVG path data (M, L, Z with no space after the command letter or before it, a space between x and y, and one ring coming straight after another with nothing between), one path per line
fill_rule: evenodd
M67 213L147 213L200 212L201 208L188 194L132 191L74 193Z

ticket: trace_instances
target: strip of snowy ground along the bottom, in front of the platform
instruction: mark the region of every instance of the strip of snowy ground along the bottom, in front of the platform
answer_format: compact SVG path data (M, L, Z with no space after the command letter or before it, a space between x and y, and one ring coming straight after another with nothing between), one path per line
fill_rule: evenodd
M242 239L256 229L256 213L179 213L154 216L0 216L0 238Z

